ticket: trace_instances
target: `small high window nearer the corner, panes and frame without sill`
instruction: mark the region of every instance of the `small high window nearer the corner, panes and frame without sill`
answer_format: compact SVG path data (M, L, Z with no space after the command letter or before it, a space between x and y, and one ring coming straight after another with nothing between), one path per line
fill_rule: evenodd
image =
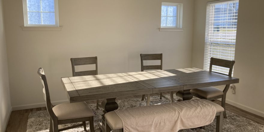
M162 2L161 27L182 28L182 7L183 4Z

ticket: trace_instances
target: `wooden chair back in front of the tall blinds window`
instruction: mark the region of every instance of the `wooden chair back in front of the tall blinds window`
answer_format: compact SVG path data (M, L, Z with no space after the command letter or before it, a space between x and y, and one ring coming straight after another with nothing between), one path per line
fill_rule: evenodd
M220 67L226 67L226 68L229 68L228 75L224 74L224 73L219 73L219 72L215 72L215 73L223 74L223 75L226 75L226 76L232 76L232 71L233 71L234 64L235 64L235 61L229 61L229 60L224 60L224 59L218 59L218 58L211 57L209 71L210 72L215 72L215 71L212 71L212 66L213 65L220 66Z

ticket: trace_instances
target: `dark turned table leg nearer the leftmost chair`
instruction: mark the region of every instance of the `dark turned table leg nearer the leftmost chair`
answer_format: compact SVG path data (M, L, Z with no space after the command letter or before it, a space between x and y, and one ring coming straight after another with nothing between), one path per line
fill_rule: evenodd
M117 110L118 109L118 104L116 103L116 98L109 98L109 99L105 99L104 101L102 101L102 108L104 109L103 110L103 113L107 113L107 112L110 112L110 111L114 111L114 110ZM102 115L102 119L103 119L103 122L99 123L99 128L101 128L102 132L105 132L106 130L106 121L105 121L105 118L104 118L104 114Z

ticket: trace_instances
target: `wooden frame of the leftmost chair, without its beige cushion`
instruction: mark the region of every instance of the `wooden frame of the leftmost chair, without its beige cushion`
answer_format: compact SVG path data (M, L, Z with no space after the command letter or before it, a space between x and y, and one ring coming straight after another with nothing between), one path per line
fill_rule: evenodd
M87 131L85 122L89 121L90 132L94 132L94 117L93 116L83 117L83 118L76 118L76 119L58 120L58 117L54 114L54 112L52 110L52 108L54 106L51 104L51 101L50 101L48 83L47 83L47 79L46 79L46 76L44 74L43 68L39 68L38 69L38 75L41 78L41 82L42 82L43 88L45 88L45 93L43 91L43 94L44 94L44 98L45 98L45 101L46 101L46 108L47 108L49 116L50 116L49 131L50 132L59 132L59 131L65 131L65 130L72 129L72 128L77 128L77 127L80 127L80 126L83 126L84 131ZM58 129L58 125L76 123L76 122L82 122L82 124L73 125L73 126L70 126L70 127L67 127L67 128Z

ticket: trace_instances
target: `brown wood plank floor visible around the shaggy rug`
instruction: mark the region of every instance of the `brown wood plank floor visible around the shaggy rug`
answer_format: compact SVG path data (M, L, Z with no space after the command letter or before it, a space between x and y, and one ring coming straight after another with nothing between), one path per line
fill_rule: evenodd
M168 93L164 93L164 94L168 94ZM141 96L142 95L123 97L123 98L117 98L116 100L141 98ZM159 94L152 94L151 96L159 96ZM175 94L174 94L174 96L175 96ZM221 105L221 101L216 100L213 102ZM95 103L96 103L96 101L88 102L88 104L95 104ZM26 132L29 113L32 111L39 111L39 110L46 110L46 107L12 111L10 118L9 118L9 121L8 121L8 124L7 124L6 132ZM253 113L247 112L245 110L242 110L238 107L234 107L234 106L229 105L229 104L226 104L226 110L229 110L230 112L238 114L239 116L242 116L242 117L249 119L253 122L264 125L264 118L261 116L257 116Z

